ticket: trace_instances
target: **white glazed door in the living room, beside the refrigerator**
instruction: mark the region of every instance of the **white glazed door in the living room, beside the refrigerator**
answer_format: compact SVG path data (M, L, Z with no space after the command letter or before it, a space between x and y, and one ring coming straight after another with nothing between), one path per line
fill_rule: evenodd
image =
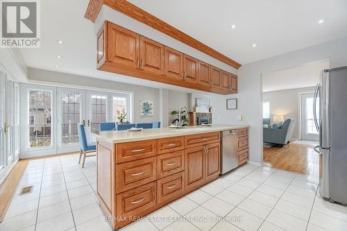
M301 139L318 141L319 132L314 125L313 103L313 93L301 94ZM317 110L319 110L319 104L317 104Z

